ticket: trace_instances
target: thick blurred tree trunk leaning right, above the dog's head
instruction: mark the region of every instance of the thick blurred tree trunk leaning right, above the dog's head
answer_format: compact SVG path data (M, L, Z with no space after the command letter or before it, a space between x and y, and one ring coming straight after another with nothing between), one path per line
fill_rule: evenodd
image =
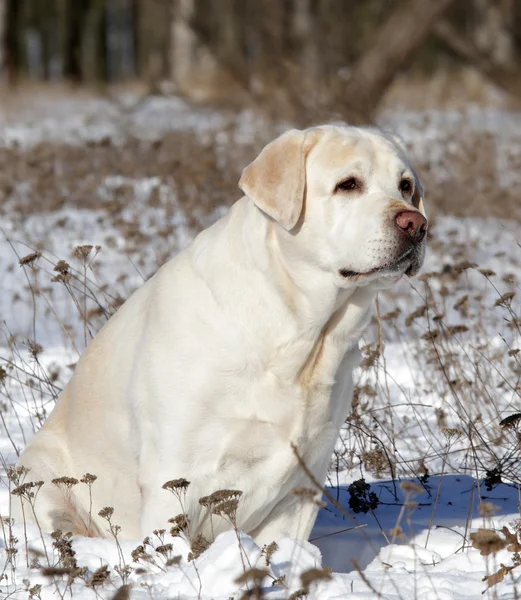
M371 120L385 91L454 0L409 0L376 30L344 88L350 121Z

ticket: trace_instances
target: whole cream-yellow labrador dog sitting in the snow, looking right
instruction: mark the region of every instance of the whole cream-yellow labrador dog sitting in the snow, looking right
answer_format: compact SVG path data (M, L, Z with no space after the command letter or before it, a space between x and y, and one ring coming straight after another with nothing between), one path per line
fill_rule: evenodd
M21 456L45 482L45 530L104 535L112 506L127 538L185 513L210 540L230 523L199 499L233 489L259 544L308 537L317 507L292 493L310 487L292 444L323 482L375 294L422 264L422 193L399 140L336 125L283 134L239 186L100 331ZM88 486L50 483L86 472L92 509ZM163 489L181 478L178 497Z

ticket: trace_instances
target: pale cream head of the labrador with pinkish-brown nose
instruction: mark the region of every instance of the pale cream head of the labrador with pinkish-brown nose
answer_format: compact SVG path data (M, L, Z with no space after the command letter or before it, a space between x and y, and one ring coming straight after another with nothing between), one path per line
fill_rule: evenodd
M282 228L283 244L341 287L414 275L423 263L423 191L399 138L327 125L289 131L244 169L244 193Z

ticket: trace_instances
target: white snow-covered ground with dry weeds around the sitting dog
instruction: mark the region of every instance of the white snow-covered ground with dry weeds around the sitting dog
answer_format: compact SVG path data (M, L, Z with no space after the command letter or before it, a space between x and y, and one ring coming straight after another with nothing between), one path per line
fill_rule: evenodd
M38 119L28 112L0 120L0 146L81 145L106 137L123 145L128 136L154 140L178 130L217 140L232 135L240 145L264 127L247 111L234 116L196 110L178 99L152 99L132 110L128 103L64 100L58 110L43 103ZM453 175L444 161L448 132L486 129L499 149L496 156L503 157L494 165L500 179L519 183L512 168L521 155L519 115L475 109L467 115L397 112L383 120L410 142L414 156L439 166L440 185ZM23 186L19 181L17 194ZM116 218L108 207L123 189L131 193ZM15 203L10 209L9 197L3 206L4 517L13 485L7 469L49 414L85 343L161 257L184 247L201 224L226 210L217 206L194 224L175 186L161 177L110 173L95 194L99 202L92 209L66 203L28 214ZM122 223L130 222L142 237L123 230ZM168 233L157 235L160 230ZM86 259L74 253L87 244L94 248ZM66 271L63 265L56 270L60 260L67 262ZM72 277L60 280L64 272ZM3 519L0 596L110 598L120 590L120 597L130 592L132 598L183 599L297 598L304 591L318 600L482 597L492 583L485 576L520 561L512 540L486 555L485 542L478 537L480 549L473 548L470 537L479 528L500 531L506 525L514 535L521 528L521 442L515 424L500 425L521 413L519 224L437 215L422 273L379 298L379 318L361 343L355 405L331 460L326 506L310 542L280 540L266 553L230 531L189 561L188 544L161 532L150 532L136 551L142 540L53 539ZM498 548L501 539L495 540ZM255 575L252 567L264 571ZM504 579L497 576L484 597L517 598L521 567L500 573ZM261 591L247 596L255 577Z

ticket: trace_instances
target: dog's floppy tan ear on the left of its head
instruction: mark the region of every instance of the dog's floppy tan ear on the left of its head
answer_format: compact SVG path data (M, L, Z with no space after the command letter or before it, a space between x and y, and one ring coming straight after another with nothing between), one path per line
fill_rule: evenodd
M292 129L268 144L242 172L241 190L286 230L297 224L306 190L306 132Z

